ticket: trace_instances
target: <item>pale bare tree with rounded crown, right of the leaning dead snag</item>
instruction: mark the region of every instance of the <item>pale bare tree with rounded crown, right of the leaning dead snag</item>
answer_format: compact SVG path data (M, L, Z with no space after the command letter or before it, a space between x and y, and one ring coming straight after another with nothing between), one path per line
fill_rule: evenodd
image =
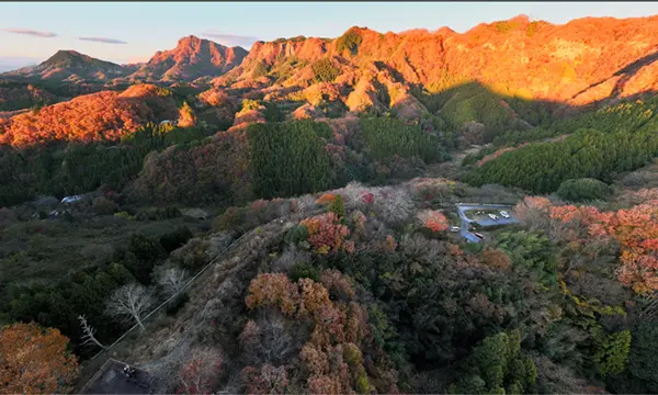
M141 330L146 330L141 316L148 312L154 302L150 290L138 283L131 283L114 291L107 301L105 313L123 320L134 319Z

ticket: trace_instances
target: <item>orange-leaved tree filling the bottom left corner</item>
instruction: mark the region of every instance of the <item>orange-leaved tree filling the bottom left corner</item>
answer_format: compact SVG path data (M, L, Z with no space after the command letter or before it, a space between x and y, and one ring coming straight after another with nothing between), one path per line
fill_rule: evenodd
M0 330L0 393L53 394L70 391L78 360L58 329L14 324Z

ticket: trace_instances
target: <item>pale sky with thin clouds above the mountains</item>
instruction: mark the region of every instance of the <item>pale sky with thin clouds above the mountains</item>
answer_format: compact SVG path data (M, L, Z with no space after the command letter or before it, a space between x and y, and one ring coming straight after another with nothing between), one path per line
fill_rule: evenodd
M583 16L649 16L658 14L658 3L0 2L0 69L41 63L58 49L118 64L146 61L188 35L249 49L258 40L337 37L354 25L462 33L519 14L563 24Z

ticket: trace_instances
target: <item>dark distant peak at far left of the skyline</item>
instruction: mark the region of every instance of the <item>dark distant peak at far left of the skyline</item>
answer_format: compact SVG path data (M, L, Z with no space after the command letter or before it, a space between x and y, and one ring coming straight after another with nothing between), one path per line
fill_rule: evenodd
M129 71L120 65L92 58L76 50L58 50L36 66L5 72L2 77L27 80L94 81L110 80Z

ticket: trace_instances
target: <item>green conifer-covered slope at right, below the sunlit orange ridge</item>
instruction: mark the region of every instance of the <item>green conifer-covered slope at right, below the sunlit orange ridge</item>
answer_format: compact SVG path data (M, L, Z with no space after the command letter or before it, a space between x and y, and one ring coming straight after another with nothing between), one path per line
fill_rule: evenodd
M610 183L620 173L638 169L658 156L656 113L656 98L637 100L559 121L525 137L513 136L512 140L520 143L535 135L570 134L518 149L500 149L465 180L477 185L514 185L535 193L555 192L563 182L579 178Z

